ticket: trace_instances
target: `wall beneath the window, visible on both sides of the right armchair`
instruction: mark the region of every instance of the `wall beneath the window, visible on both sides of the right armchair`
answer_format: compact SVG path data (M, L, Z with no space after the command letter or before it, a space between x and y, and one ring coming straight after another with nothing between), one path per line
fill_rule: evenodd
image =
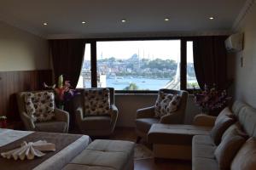
M117 126L135 127L136 111L154 105L157 94L116 94L115 105L119 109ZM193 95L189 95L185 123L190 124L200 109L195 106Z

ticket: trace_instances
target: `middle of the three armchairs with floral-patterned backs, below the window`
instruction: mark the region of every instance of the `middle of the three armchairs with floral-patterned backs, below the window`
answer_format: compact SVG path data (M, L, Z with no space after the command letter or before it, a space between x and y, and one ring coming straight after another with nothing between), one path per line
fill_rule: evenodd
M85 88L74 98L74 112L81 133L108 136L113 133L118 109L114 105L113 88Z

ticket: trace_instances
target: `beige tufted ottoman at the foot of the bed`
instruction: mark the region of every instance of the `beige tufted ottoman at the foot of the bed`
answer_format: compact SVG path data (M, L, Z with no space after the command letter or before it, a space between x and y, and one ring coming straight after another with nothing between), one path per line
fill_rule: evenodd
M96 139L64 170L131 170L135 144L130 141Z

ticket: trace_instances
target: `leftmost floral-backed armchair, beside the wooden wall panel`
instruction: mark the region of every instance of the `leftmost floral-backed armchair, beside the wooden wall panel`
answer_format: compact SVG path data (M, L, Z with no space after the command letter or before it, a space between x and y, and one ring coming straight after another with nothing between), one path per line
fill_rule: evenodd
M54 94L49 91L17 94L20 118L26 130L68 133L69 114L55 108Z

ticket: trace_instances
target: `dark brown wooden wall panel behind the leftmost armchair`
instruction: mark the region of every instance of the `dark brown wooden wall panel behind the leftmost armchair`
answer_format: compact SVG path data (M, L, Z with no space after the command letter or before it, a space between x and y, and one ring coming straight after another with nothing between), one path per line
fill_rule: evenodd
M43 82L52 83L52 71L0 71L0 116L9 121L19 121L15 94L22 91L40 90Z

